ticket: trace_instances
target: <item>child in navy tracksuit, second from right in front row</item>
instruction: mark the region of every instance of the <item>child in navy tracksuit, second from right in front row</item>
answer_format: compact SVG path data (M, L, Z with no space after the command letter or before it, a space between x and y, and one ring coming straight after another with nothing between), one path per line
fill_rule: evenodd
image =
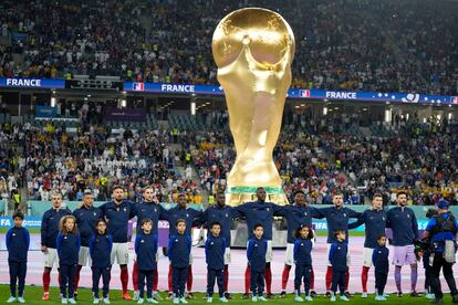
M335 230L335 242L330 249L330 262L332 265L332 284L331 284L331 301L335 302L335 293L341 291L341 299L350 301L345 296L345 272L347 271L346 260L348 254L348 246L345 241L346 233L344 230Z

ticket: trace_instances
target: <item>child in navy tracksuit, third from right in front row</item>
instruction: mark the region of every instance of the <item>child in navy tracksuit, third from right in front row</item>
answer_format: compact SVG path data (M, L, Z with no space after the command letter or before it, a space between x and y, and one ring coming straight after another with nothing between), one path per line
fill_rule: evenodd
M295 241L293 257L295 264L294 292L296 302L304 302L301 297L301 282L304 282L305 299L313 301L310 296L310 283L312 278L312 248L313 231L311 227L299 227L294 232Z

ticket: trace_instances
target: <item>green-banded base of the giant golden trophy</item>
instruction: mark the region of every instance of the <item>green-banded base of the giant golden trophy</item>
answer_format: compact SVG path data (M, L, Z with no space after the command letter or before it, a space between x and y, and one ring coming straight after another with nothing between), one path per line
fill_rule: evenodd
M240 206L244 202L256 201L256 190L258 187L228 187L226 190L226 204L231 207ZM281 187L266 187L266 201L280 206L289 203L288 197Z

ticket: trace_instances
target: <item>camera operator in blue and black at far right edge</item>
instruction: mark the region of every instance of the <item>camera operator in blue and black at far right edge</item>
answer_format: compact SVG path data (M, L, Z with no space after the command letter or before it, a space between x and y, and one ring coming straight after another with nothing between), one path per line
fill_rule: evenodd
M425 239L430 240L433 266L431 266L431 286L435 293L435 304L443 303L443 291L440 287L440 269L444 269L444 277L447 281L454 303L458 303L458 292L455 283L454 271L456 252L456 234L458 231L458 221L448 211L449 203L446 200L439 200L437 203L438 214L433 217L426 225Z

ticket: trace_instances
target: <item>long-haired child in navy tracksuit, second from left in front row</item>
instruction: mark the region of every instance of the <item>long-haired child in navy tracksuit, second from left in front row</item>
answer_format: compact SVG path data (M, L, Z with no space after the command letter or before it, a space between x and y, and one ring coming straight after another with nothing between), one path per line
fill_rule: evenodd
M76 219L73 215L62 218L61 232L55 243L59 254L59 266L61 269L62 304L76 304L73 288L81 241L76 229Z

